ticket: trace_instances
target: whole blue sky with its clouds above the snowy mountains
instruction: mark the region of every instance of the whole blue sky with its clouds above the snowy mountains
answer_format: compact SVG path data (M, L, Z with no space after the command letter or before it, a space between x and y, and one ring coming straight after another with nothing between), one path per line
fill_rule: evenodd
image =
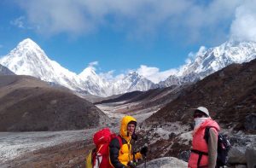
M72 72L137 70L158 82L201 46L256 41L255 11L253 0L1 0L0 55L32 38Z

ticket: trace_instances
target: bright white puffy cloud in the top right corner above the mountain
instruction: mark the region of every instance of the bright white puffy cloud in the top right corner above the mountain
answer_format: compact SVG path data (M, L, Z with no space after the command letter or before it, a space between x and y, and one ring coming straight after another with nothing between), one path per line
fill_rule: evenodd
M236 19L230 27L230 36L240 41L256 42L256 1L247 0L236 9Z

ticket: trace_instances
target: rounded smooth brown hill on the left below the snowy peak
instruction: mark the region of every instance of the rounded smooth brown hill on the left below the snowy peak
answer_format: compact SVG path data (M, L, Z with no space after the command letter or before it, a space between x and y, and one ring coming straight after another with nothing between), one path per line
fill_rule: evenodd
M0 131L76 130L108 117L69 90L28 76L0 76Z

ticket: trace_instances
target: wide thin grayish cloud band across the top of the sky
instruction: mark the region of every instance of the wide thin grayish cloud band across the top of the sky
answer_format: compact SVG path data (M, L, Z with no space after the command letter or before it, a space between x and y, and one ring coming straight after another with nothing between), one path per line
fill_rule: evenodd
M86 34L108 26L125 32L128 38L166 33L173 39L209 41L227 38L225 31L241 1L20 0L18 3L26 10L28 21L48 35Z

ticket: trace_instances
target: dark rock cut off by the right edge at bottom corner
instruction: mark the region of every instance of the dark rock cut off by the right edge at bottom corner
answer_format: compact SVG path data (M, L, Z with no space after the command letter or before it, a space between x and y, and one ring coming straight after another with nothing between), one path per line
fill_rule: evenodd
M248 168L256 167L256 142L252 143L250 147L247 147L245 157Z

